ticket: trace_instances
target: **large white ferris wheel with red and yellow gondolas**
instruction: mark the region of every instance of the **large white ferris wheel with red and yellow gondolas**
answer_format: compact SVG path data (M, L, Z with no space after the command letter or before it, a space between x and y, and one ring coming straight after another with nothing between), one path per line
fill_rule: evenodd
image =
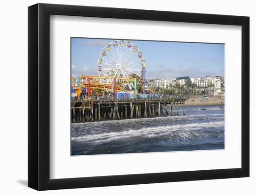
M128 40L113 40L101 51L97 64L101 82L112 82L118 78L135 78L140 82L144 78L145 60L144 56L134 43Z

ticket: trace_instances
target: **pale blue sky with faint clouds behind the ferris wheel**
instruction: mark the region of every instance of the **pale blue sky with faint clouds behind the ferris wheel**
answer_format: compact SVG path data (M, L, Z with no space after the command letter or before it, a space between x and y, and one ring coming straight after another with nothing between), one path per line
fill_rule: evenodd
M72 76L97 75L99 55L111 41L71 38ZM143 53L146 79L224 75L224 44L130 41Z

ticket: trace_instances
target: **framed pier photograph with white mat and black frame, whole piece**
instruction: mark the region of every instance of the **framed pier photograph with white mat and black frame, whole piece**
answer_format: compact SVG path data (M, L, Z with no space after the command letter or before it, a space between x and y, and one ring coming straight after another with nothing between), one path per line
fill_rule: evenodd
M28 7L28 186L249 176L249 17Z

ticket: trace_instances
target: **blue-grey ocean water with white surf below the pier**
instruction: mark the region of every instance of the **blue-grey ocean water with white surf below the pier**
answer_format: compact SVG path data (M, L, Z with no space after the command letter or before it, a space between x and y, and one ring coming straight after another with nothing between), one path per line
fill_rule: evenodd
M224 149L224 106L186 107L185 116L71 124L72 155L211 149Z

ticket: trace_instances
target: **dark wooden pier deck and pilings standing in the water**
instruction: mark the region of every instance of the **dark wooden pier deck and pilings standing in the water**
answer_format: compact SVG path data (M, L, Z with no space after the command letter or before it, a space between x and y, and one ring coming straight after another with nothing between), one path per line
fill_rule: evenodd
M183 106L183 115L185 115L185 100L182 98L74 100L71 104L71 121L81 123L179 116L179 105ZM168 106L170 106L169 111Z

